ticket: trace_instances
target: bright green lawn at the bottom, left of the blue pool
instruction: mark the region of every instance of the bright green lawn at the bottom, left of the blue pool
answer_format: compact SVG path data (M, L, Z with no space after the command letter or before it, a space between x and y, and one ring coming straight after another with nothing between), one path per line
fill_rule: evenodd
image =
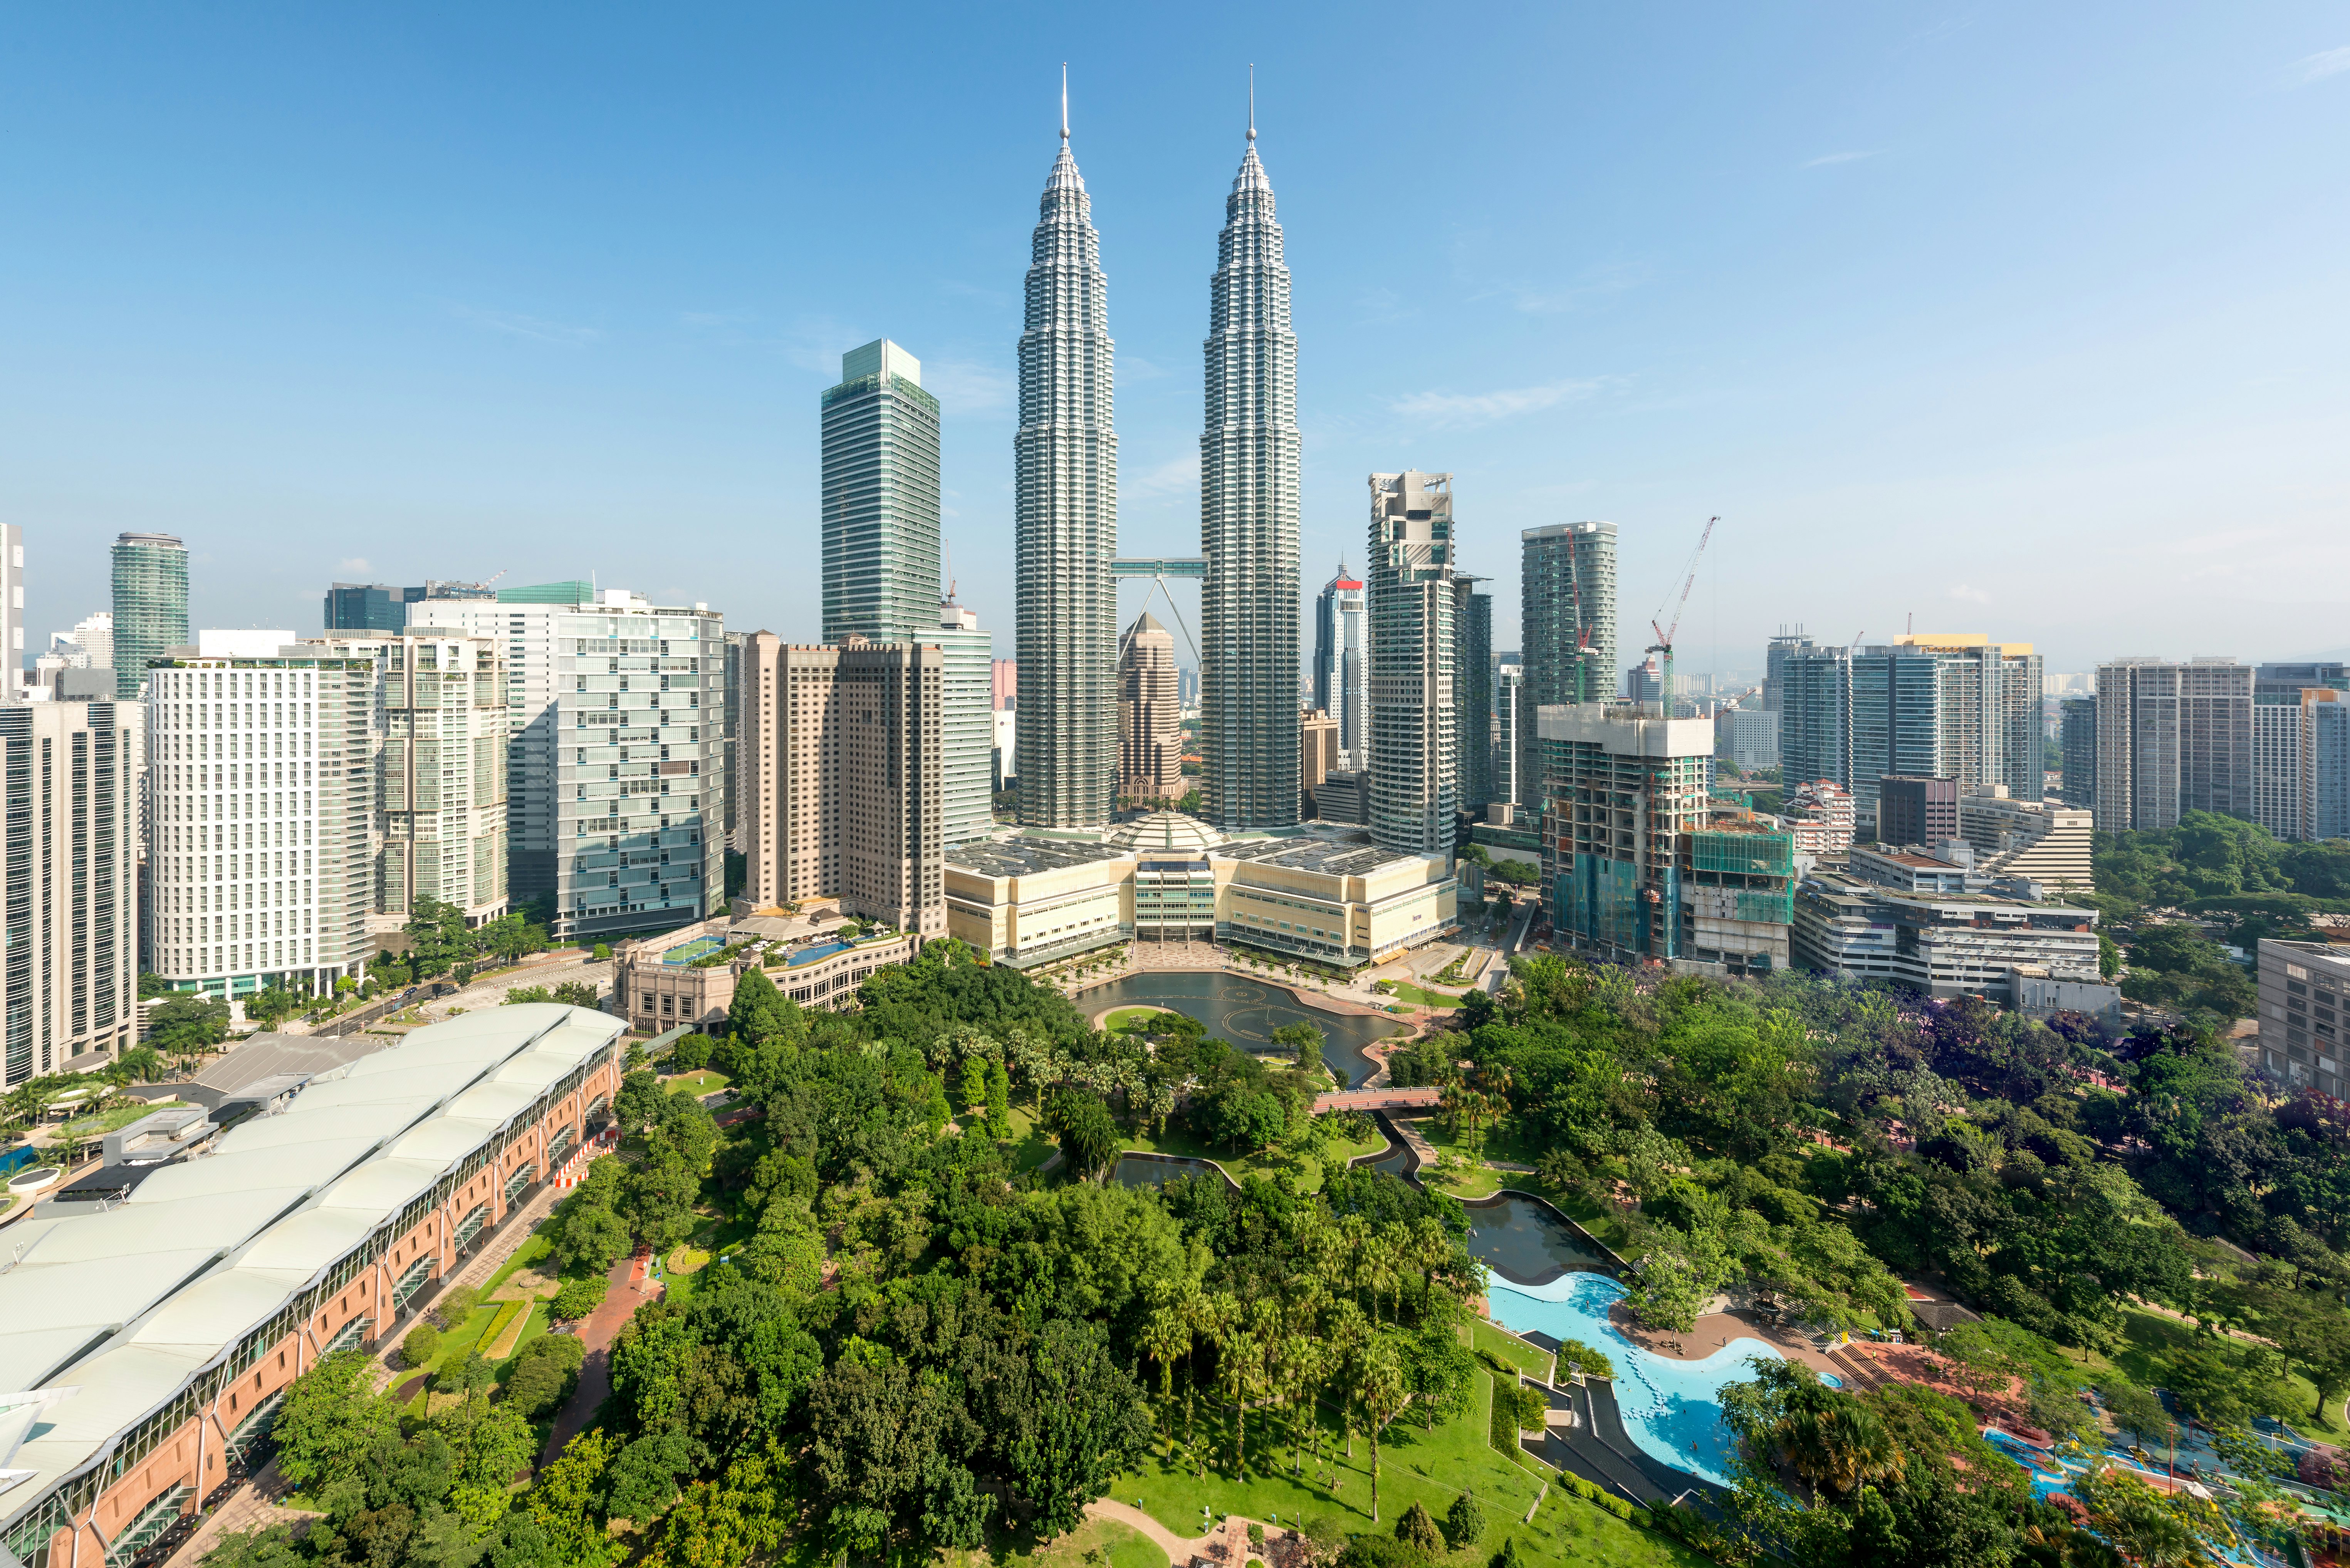
M1182 1403L1170 1403L1170 1422L1182 1427ZM1502 1542L1518 1540L1518 1554L1535 1563L1673 1563L1697 1566L1704 1559L1661 1535L1633 1528L1572 1493L1551 1488L1535 1512L1532 1523L1520 1523L1546 1479L1546 1469L1535 1462L1513 1465L1488 1441L1492 1418L1492 1380L1478 1380L1473 1408L1436 1425L1426 1432L1405 1410L1379 1441L1379 1519L1370 1519L1370 1439L1356 1432L1354 1458L1344 1458L1344 1434L1337 1415L1318 1408L1316 1418L1325 1434L1325 1458L1307 1455L1304 1474L1290 1476L1290 1432L1285 1413L1255 1410L1248 1422L1250 1479L1236 1481L1231 1472L1231 1432L1220 1401L1201 1401L1194 1418L1194 1436L1208 1453L1208 1476L1198 1476L1196 1460L1182 1453L1170 1462L1166 1455L1166 1429L1152 1446L1152 1458L1140 1472L1130 1472L1109 1483L1109 1497L1119 1502L1140 1500L1140 1507L1177 1535L1201 1533L1201 1505L1215 1516L1241 1514L1264 1523L1297 1526L1323 1535L1391 1533L1396 1519L1419 1502L1436 1519L1445 1516L1452 1500L1473 1488L1485 1505L1485 1540L1459 1552L1431 1559L1431 1568L1483 1568ZM1215 1408L1210 1408L1215 1406ZM1309 1443L1311 1448L1311 1443ZM1264 1467L1271 1474L1264 1474ZM1337 1479L1330 1490L1321 1476Z

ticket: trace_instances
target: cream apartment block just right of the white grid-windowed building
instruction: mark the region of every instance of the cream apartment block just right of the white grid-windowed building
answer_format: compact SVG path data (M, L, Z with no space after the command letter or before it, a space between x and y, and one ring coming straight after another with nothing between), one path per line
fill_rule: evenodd
M369 926L397 931L421 898L468 926L505 914L505 658L489 637L409 628L329 632L315 646L374 663L376 799Z

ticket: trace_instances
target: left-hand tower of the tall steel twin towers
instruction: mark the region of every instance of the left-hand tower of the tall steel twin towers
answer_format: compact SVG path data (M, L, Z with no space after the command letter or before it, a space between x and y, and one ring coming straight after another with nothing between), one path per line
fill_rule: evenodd
M1119 552L1119 435L1100 252L1093 202L1069 155L1065 94L1060 158L1029 247L1013 437L1025 827L1100 827L1116 799L1119 590L1109 564Z

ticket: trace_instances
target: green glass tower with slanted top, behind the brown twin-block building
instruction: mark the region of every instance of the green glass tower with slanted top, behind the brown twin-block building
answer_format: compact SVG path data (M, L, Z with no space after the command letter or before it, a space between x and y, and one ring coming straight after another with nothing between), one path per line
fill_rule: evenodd
M938 400L888 339L825 388L825 642L938 632Z

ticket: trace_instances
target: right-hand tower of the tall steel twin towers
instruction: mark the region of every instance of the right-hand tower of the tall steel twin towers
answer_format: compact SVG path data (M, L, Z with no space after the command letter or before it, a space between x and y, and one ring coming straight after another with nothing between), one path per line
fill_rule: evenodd
M1224 830L1297 823L1297 334L1257 127L1224 200L1198 437L1201 797Z

